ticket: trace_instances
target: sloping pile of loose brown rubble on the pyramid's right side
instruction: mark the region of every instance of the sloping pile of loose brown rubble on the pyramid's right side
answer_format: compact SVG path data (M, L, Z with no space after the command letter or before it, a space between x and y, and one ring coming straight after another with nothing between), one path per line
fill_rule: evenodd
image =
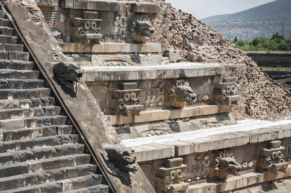
M290 115L290 92L276 86L251 58L191 14L169 4L163 4L162 9L163 14L154 20L158 30L153 42L162 44L163 52L175 48L182 62L246 64L245 72L235 74L242 86L241 107L245 109L241 115L234 114L237 119L276 120Z

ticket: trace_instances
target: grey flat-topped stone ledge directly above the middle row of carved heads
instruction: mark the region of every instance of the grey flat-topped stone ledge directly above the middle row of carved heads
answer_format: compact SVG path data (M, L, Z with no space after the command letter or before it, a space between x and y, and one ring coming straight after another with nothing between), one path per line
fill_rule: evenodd
M223 75L219 64L172 63L140 66L81 66L85 81L154 80Z

